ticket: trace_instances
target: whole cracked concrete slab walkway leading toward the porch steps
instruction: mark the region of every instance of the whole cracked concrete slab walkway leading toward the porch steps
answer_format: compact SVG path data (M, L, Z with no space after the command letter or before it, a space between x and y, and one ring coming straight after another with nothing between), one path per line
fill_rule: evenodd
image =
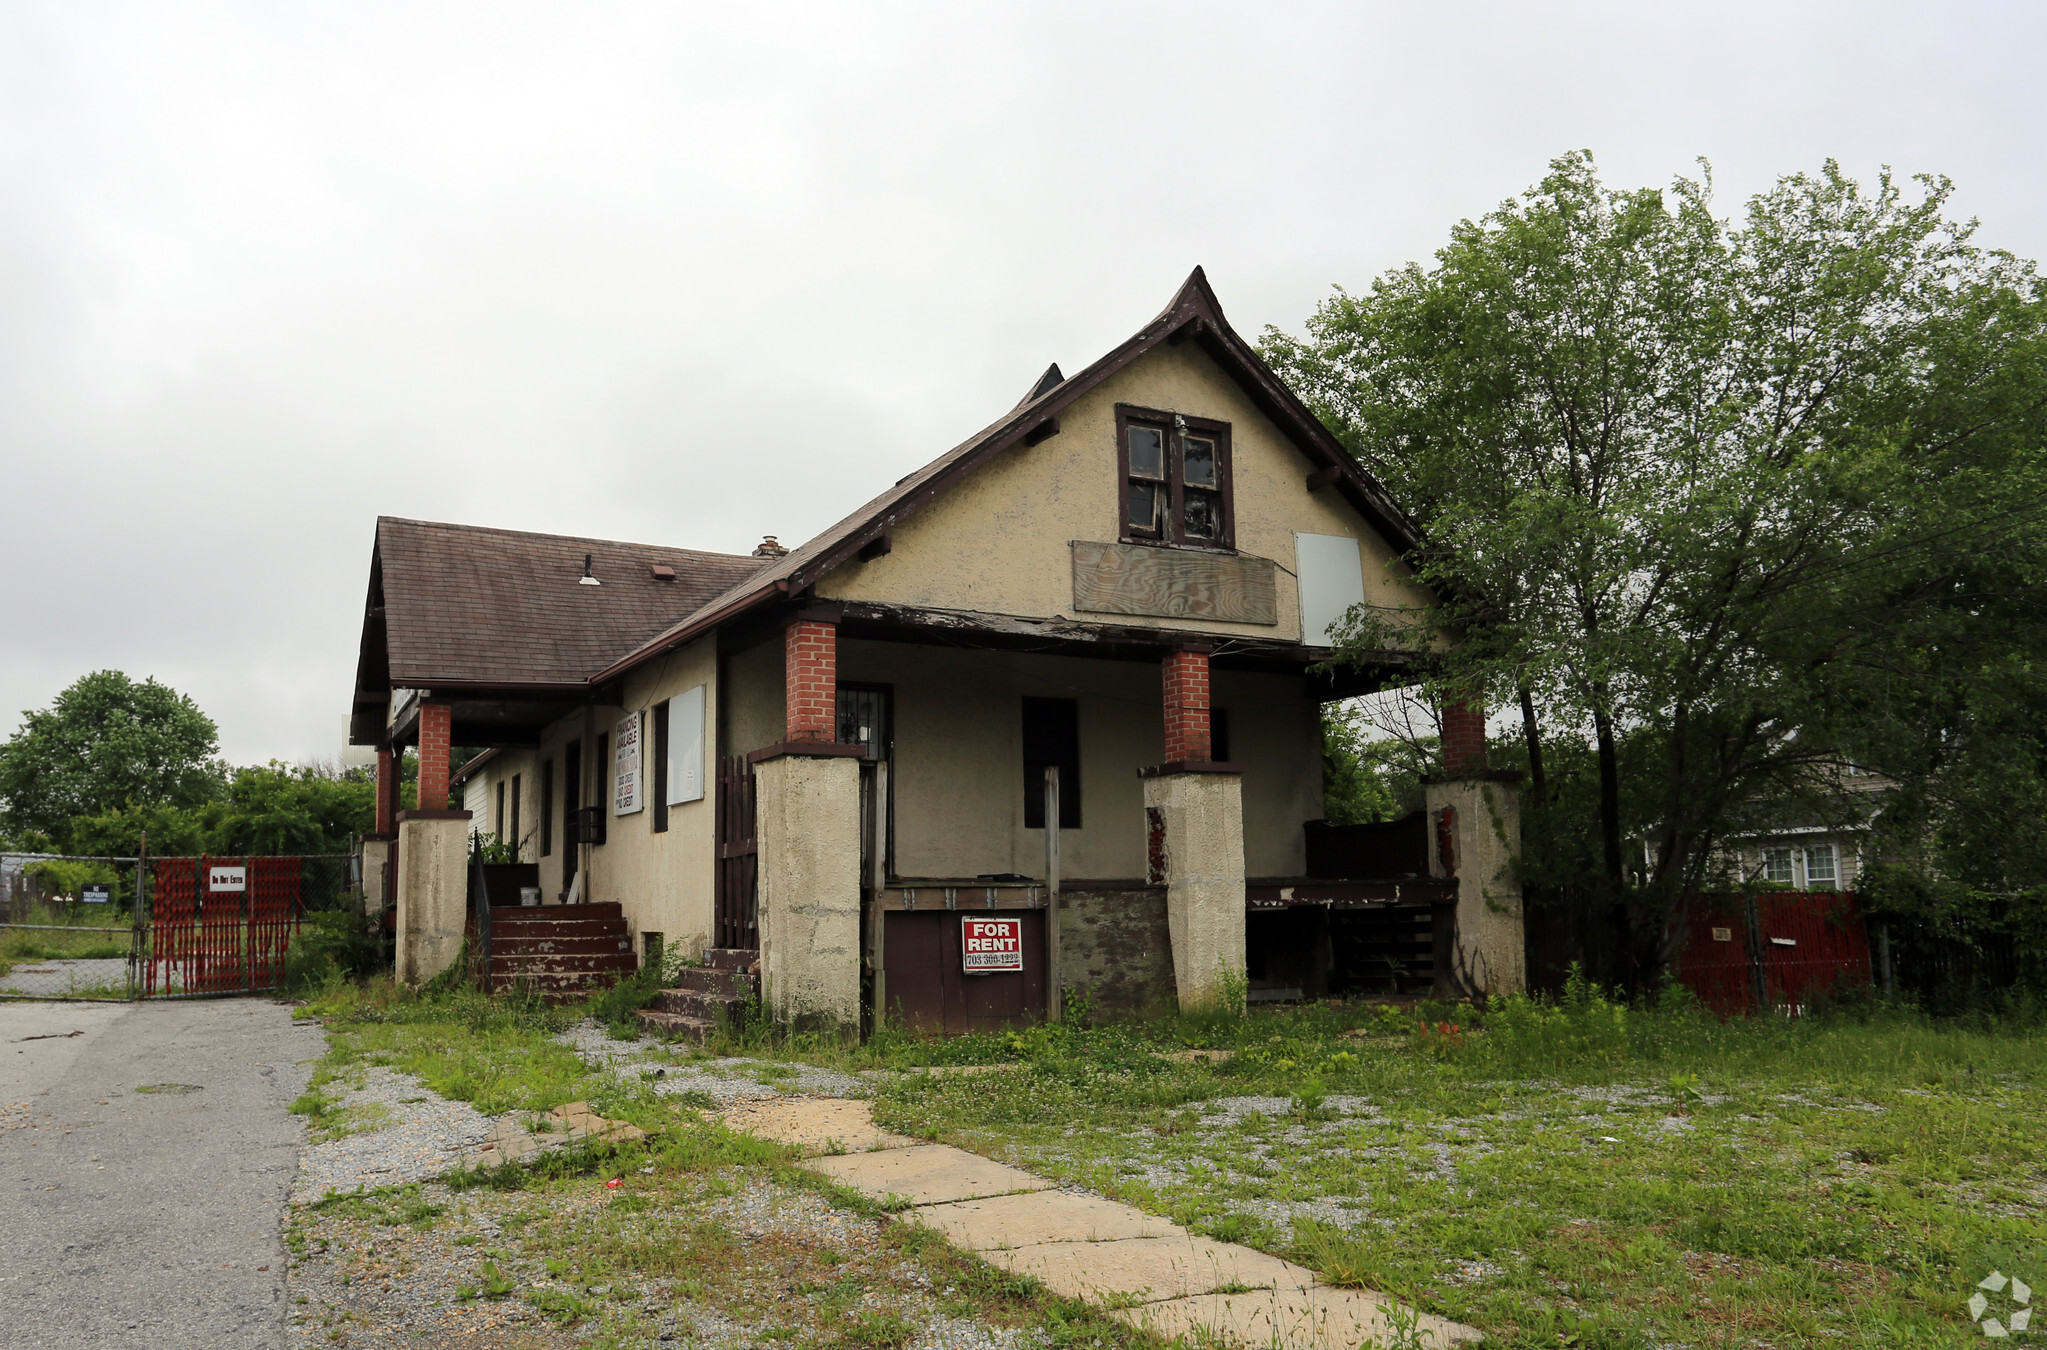
M1474 1328L1398 1309L1376 1293L1333 1289L1314 1270L1187 1229L1101 1197L944 1143L874 1125L864 1100L772 1100L725 1113L727 1125L792 1143L804 1166L921 1223L989 1264L1030 1274L1060 1297L1112 1305L1112 1317L1161 1336L1277 1350L1390 1344L1396 1317L1425 1346L1478 1340Z

